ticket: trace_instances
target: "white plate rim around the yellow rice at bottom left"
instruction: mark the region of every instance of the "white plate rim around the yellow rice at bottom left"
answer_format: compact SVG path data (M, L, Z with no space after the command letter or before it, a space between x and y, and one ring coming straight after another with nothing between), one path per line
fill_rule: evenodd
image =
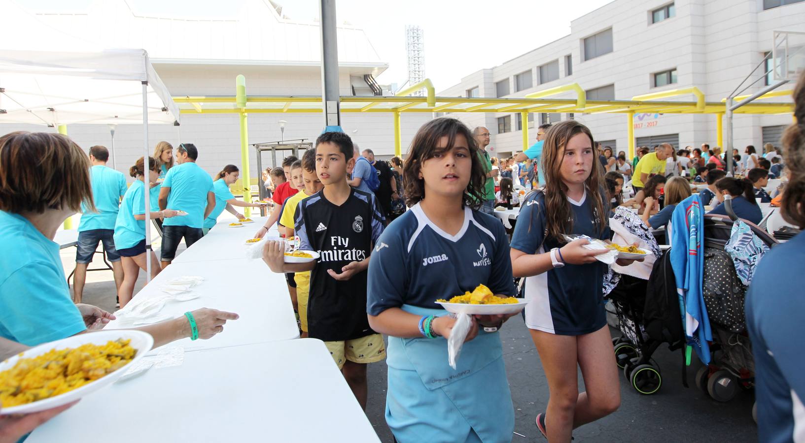
M46 398L43 400L34 401L28 404L20 404L19 406L11 406L9 408L2 408L0 409L0 415L8 415L8 414L24 414L30 412L39 412L44 411L50 408L56 408L57 406L61 406L63 404L71 403L72 401L78 400L83 396L86 396L90 392L95 392L98 389L105 387L108 384L114 383L117 379L119 379L123 374L128 371L129 367L137 363L142 357L144 357L148 351L151 351L151 347L154 346L154 338L151 338L150 334L146 334L145 332L141 332L139 330L101 330L98 332L90 332L88 334L78 334L72 337L64 338L62 340L56 340L55 342L50 343L43 343L38 347L32 347L31 349L24 351L21 355L17 354L10 359L7 359L3 362L0 362L0 371L6 371L11 367L14 367L14 364L21 358L31 358L37 355L42 355L47 351L51 351L52 349L64 349L68 347L80 347L86 343L93 343L95 345L104 345L110 340L114 341L118 338L130 338L131 339L131 347L137 350L137 354L134 355L134 359L132 359L126 366L119 368L117 371L110 372L109 374L97 379L89 384L85 384L81 388L73 389L72 391L64 392L59 396L53 396L50 398Z

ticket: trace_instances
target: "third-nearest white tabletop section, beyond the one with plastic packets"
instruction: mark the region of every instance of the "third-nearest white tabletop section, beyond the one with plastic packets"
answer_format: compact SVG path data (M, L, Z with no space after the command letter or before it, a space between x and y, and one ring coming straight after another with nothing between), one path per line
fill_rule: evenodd
M173 263L244 258L246 248L251 247L246 245L246 240L254 238L254 234L266 224L268 218L252 217L252 219L254 223L243 224L243 228L229 228L232 219L219 222L201 240L176 256ZM271 227L266 236L279 236L276 225Z

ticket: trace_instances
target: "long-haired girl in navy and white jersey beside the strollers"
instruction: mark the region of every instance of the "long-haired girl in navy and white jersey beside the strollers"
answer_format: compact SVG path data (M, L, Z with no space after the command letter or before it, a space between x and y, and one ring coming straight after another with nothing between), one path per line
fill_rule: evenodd
M607 266L563 234L609 240L609 204L586 126L551 126L543 144L546 186L526 198L511 242L515 277L526 277L526 326L539 352L550 400L536 425L550 441L570 441L572 429L620 405L617 366L607 329L602 285ZM629 264L631 261L618 262ZM579 393L576 365L586 392Z

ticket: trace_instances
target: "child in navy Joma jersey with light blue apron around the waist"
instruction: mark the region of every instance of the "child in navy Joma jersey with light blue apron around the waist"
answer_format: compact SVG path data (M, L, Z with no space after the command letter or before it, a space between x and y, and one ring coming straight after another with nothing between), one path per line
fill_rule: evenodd
M389 335L386 422L400 442L511 441L497 328L514 314L474 316L452 369L447 338L456 320L436 304L477 285L516 294L503 225L477 211L486 178L475 138L456 119L430 121L403 174L411 211L386 228L369 263L369 325Z

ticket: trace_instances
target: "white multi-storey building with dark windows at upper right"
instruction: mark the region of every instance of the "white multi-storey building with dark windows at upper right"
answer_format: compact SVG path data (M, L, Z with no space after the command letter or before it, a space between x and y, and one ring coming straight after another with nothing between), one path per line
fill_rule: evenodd
M539 32L539 18L535 31ZM588 100L631 100L650 92L696 86L706 100L720 101L762 63L772 50L773 31L803 31L803 0L615 0L576 18L571 33L494 68L473 72L438 96L522 97L531 92L578 83ZM749 79L758 80L744 93L774 83L762 66ZM793 88L793 84L783 85ZM564 97L569 95L562 95ZM693 96L680 97L695 100ZM667 99L677 100L677 99ZM773 100L790 101L788 97ZM492 133L493 153L522 150L518 113L453 113L471 127ZM628 154L625 114L531 113L527 125L574 118L588 125L604 146ZM778 145L791 123L786 115L737 115L733 147ZM725 125L726 127L726 125ZM530 130L532 140L535 130ZM684 146L716 145L715 115L636 114L637 146L671 142ZM726 137L725 137L726 140Z

